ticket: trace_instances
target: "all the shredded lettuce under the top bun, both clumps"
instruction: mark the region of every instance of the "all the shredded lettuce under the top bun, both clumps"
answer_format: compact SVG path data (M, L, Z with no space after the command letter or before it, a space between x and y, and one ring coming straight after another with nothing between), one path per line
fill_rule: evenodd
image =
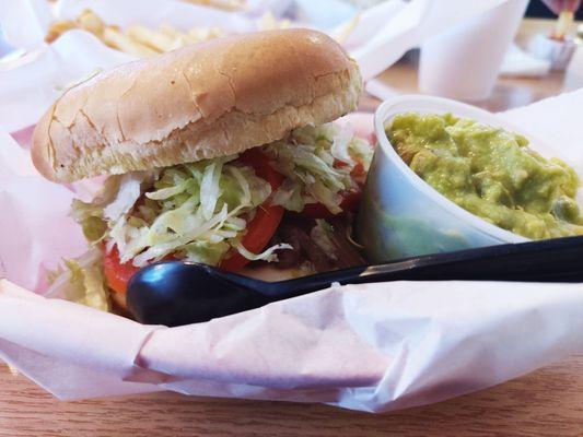
M351 169L357 163L368 168L372 155L350 128L333 123L295 130L263 151L285 176L275 193L232 155L112 176L94 201L73 202L72 216L91 243L105 240L105 250L115 246L120 261L136 267L170 255L212 265L233 252L275 261L277 250L291 247L252 253L241 243L255 210L271 197L290 211L319 202L340 213L341 191L355 188Z

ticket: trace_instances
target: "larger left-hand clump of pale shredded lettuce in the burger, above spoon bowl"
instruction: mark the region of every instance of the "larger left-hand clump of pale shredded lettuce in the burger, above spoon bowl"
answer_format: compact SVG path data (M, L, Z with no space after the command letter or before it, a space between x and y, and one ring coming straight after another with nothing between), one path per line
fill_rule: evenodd
M91 241L106 237L106 250L115 245L120 261L136 267L168 255L215 265L232 248L248 259L271 260L283 247L255 255L240 243L271 186L252 167L231 164L235 158L114 176L95 202L74 202L73 216Z

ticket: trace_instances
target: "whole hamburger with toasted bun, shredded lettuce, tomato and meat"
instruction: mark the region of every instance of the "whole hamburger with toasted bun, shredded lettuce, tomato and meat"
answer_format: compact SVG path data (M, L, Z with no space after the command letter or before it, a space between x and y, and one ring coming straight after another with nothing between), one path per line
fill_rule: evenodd
M92 247L68 262L78 299L98 290L124 308L131 275L166 259L272 277L362 263L350 221L371 146L330 123L361 87L336 42L287 29L193 45L66 91L37 123L32 158L56 182L104 176L94 199L72 203Z

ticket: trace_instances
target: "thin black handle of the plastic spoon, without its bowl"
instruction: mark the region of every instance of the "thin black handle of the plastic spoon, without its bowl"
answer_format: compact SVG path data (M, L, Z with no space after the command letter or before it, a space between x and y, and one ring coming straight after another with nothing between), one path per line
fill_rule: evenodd
M292 297L340 284L381 281L583 282L583 236L499 245L355 267L273 283L265 294Z

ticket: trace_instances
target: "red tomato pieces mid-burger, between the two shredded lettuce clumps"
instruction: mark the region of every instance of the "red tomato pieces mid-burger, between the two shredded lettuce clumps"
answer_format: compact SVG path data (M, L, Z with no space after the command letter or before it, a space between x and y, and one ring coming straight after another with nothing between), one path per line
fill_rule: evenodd
M249 149L238 160L252 166L257 176L267 180L272 191L276 191L283 182L284 177L271 167L269 158L260 150ZM253 253L259 253L265 249L283 217L283 206L270 205L269 202L270 200L268 199L257 208L255 216L247 224L247 233L241 239L243 247ZM230 272L236 272L248 262L249 260L247 258L236 251L232 251L221 262L220 268Z

